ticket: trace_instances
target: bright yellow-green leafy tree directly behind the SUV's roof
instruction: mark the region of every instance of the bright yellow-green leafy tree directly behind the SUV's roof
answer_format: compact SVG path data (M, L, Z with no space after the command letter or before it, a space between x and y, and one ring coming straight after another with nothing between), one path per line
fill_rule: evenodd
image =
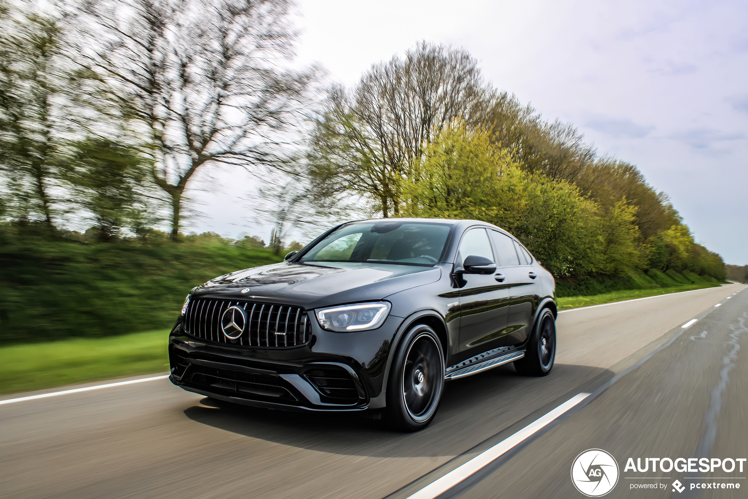
M485 129L453 122L402 188L405 216L473 218L517 236L555 275L598 271L598 206L564 181L530 174Z

